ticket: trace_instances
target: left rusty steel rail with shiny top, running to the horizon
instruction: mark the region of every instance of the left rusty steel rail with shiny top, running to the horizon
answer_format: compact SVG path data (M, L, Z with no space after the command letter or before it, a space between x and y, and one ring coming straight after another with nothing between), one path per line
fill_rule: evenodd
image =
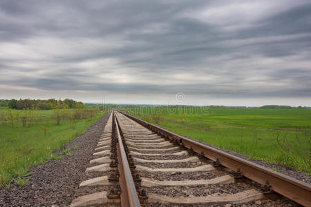
M120 129L119 125L117 124L118 122L115 112L113 112L113 118L117 131L117 168L120 172L119 182L121 186L121 205L138 207L140 206L140 200L138 199L138 194L133 181L131 169L129 167L129 162L126 158L126 153L122 144L122 137L120 135Z

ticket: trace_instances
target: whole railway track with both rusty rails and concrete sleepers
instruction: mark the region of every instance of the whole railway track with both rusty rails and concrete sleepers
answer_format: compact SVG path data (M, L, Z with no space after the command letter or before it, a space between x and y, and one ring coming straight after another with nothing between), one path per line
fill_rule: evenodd
M308 184L117 111L93 157L70 206L311 204Z

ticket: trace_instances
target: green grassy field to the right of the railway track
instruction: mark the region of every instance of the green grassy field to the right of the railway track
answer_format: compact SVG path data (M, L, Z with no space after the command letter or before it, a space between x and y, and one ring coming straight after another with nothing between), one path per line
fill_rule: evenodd
M310 109L127 106L124 111L180 135L311 173ZM279 146L278 133L293 145L292 152Z

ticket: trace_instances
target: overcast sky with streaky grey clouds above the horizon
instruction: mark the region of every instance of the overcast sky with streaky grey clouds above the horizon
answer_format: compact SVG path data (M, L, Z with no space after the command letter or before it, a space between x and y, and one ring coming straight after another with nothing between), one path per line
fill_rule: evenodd
M311 106L310 51L310 0L0 0L0 99Z

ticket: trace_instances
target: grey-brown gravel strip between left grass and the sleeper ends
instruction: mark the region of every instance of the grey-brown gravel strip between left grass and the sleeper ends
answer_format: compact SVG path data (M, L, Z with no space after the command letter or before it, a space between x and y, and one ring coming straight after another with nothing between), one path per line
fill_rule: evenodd
M26 186L11 184L10 188L0 189L0 206L68 206L78 193L79 184L88 179L85 169L89 166L94 149L104 130L109 115L102 117L84 134L66 144L59 152L72 146L72 156L48 161L32 168Z

